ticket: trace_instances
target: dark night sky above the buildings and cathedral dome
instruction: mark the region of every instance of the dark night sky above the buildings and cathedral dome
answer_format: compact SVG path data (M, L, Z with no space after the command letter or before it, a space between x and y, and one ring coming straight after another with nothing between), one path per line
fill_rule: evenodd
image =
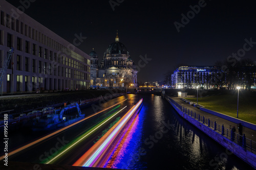
M19 1L7 0L14 6ZM204 7L177 31L180 22L200 1L110 1L36 0L25 13L50 30L73 42L75 34L87 37L78 46L89 54L95 48L101 61L106 48L115 41L130 52L137 65L139 56L152 59L140 68L138 81L163 80L178 64L214 65L243 48L245 39L256 42L256 12L253 1L206 0ZM113 5L114 6L114 5ZM256 61L256 44L243 58ZM142 62L143 63L143 62Z

